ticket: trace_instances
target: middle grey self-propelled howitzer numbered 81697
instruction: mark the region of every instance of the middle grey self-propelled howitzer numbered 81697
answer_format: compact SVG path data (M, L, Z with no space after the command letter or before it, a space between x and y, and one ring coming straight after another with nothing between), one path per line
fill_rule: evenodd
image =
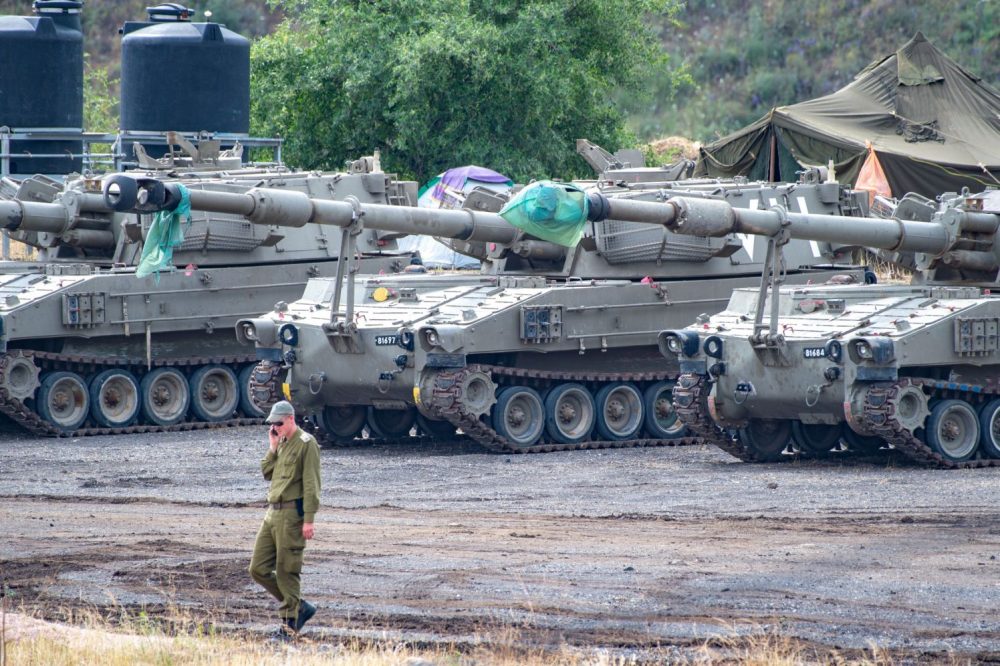
M835 184L702 186L673 191L831 213L856 201ZM419 417L424 432L458 427L493 450L532 451L684 441L670 407L677 369L660 357L656 335L663 322L714 311L734 286L755 280L765 248L665 232L670 191L592 192L594 218L573 247L532 238L472 196L465 210L272 190L192 192L191 205L262 225L340 227L348 246L359 230L379 229L459 239L481 252L479 275L312 280L302 298L241 321L237 334L256 345L257 374L283 380L285 397L327 441L349 441L366 426L405 436ZM614 219L604 220L610 209ZM811 268L833 260L826 245L792 243L786 256L790 279L834 273Z

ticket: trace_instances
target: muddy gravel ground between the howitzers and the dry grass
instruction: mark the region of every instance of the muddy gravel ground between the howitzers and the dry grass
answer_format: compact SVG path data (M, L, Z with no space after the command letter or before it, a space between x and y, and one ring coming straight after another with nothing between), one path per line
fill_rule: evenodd
M0 437L8 608L275 625L246 574L264 513L260 428ZM462 443L322 461L303 575L317 640L513 640L652 660L772 631L904 661L1000 661L1000 469Z

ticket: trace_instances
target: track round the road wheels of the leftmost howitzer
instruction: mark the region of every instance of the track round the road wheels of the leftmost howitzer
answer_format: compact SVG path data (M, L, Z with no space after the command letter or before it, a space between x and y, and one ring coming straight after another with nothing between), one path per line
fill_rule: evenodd
M98 359L72 354L56 354L43 351L22 351L21 354L27 358L33 358L43 372L53 370L73 370L83 372L94 372L109 368L137 367L145 366L146 360L139 358L109 358ZM9 356L0 356L0 413L6 415L11 421L17 423L29 433L42 437L89 437L94 435L124 435L147 432L179 432L185 430L204 430L208 428L232 428L245 425L259 425L264 422L261 418L239 417L226 419L224 421L185 421L170 426L136 424L120 428L89 427L79 428L66 432L45 421L34 410L25 405L21 400L12 397L6 388L5 374L7 371L7 359ZM180 359L153 359L152 367L190 367L203 364L236 364L256 362L255 355L248 356L200 356L186 357Z

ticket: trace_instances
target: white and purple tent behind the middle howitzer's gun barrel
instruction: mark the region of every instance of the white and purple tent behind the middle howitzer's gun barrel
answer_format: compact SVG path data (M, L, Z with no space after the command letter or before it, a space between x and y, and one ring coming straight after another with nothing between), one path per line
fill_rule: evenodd
M476 187L493 192L506 192L514 181L491 169L469 165L449 169L433 178L420 189L417 205L421 208L461 208L466 195ZM398 242L399 249L420 252L420 259L429 268L478 268L479 261L456 252L451 246L432 236L406 236Z

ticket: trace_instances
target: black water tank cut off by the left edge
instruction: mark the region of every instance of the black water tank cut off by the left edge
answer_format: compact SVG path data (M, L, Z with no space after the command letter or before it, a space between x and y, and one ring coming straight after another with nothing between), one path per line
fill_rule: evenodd
M13 131L83 129L83 2L36 0L36 16L0 16L0 127ZM10 172L79 171L80 140L15 141ZM65 157L31 158L27 154Z

